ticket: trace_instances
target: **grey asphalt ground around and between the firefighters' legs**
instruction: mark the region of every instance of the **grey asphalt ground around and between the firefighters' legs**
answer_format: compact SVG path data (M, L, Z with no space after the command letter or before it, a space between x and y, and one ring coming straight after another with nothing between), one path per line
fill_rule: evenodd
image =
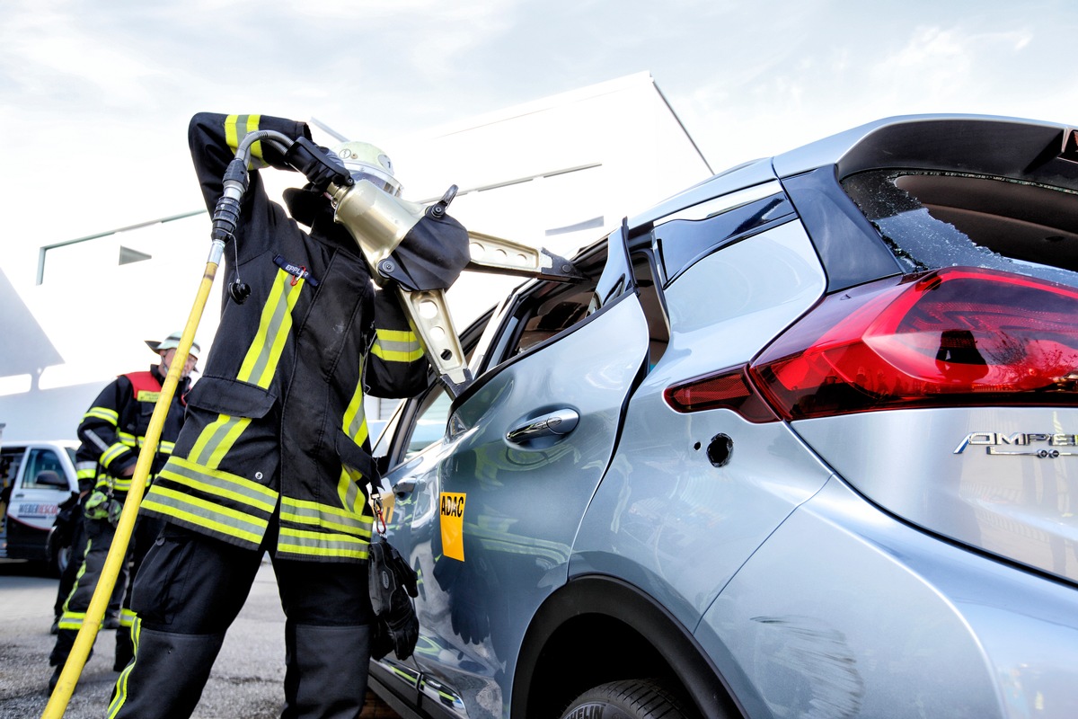
M40 717L49 702L49 634L58 580L36 566L0 559L0 719ZM118 672L114 632L102 631L64 714L103 719ZM262 565L244 610L233 623L193 719L273 719L280 716L285 680L285 614L268 563ZM362 717L399 719L373 694Z

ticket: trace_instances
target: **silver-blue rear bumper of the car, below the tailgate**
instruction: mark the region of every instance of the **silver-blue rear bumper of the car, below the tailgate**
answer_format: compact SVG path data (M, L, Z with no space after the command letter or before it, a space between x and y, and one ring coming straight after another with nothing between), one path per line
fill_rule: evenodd
M697 638L737 667L750 716L1078 716L1074 590L941 542L837 478L754 554Z

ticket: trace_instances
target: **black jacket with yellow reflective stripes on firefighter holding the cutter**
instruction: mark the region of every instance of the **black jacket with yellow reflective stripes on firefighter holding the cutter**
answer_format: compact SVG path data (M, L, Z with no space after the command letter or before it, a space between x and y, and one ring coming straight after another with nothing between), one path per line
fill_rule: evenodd
M278 117L192 119L191 153L211 211L235 149L258 129L310 137L305 123ZM258 142L225 248L224 285L239 279L251 294L243 304L224 299L183 431L141 511L251 549L277 516L279 556L363 562L372 529L364 392L412 395L426 385L427 362L328 201L300 193L303 211L293 217L310 224L305 232L268 199L257 171L267 165L287 169Z

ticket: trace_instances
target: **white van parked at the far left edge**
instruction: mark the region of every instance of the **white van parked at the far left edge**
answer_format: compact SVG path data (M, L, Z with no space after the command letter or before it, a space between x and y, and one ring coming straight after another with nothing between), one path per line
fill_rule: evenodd
M79 492L74 441L4 442L0 446L0 557L63 569L66 552L50 551L58 507Z

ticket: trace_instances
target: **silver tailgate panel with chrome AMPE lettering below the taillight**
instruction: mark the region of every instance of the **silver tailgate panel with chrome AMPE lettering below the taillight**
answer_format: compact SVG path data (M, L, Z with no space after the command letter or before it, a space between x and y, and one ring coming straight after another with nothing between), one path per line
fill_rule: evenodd
M793 428L887 511L1078 583L1078 410L870 412ZM1054 440L1028 441L1031 434ZM983 443L992 437L1003 439Z

